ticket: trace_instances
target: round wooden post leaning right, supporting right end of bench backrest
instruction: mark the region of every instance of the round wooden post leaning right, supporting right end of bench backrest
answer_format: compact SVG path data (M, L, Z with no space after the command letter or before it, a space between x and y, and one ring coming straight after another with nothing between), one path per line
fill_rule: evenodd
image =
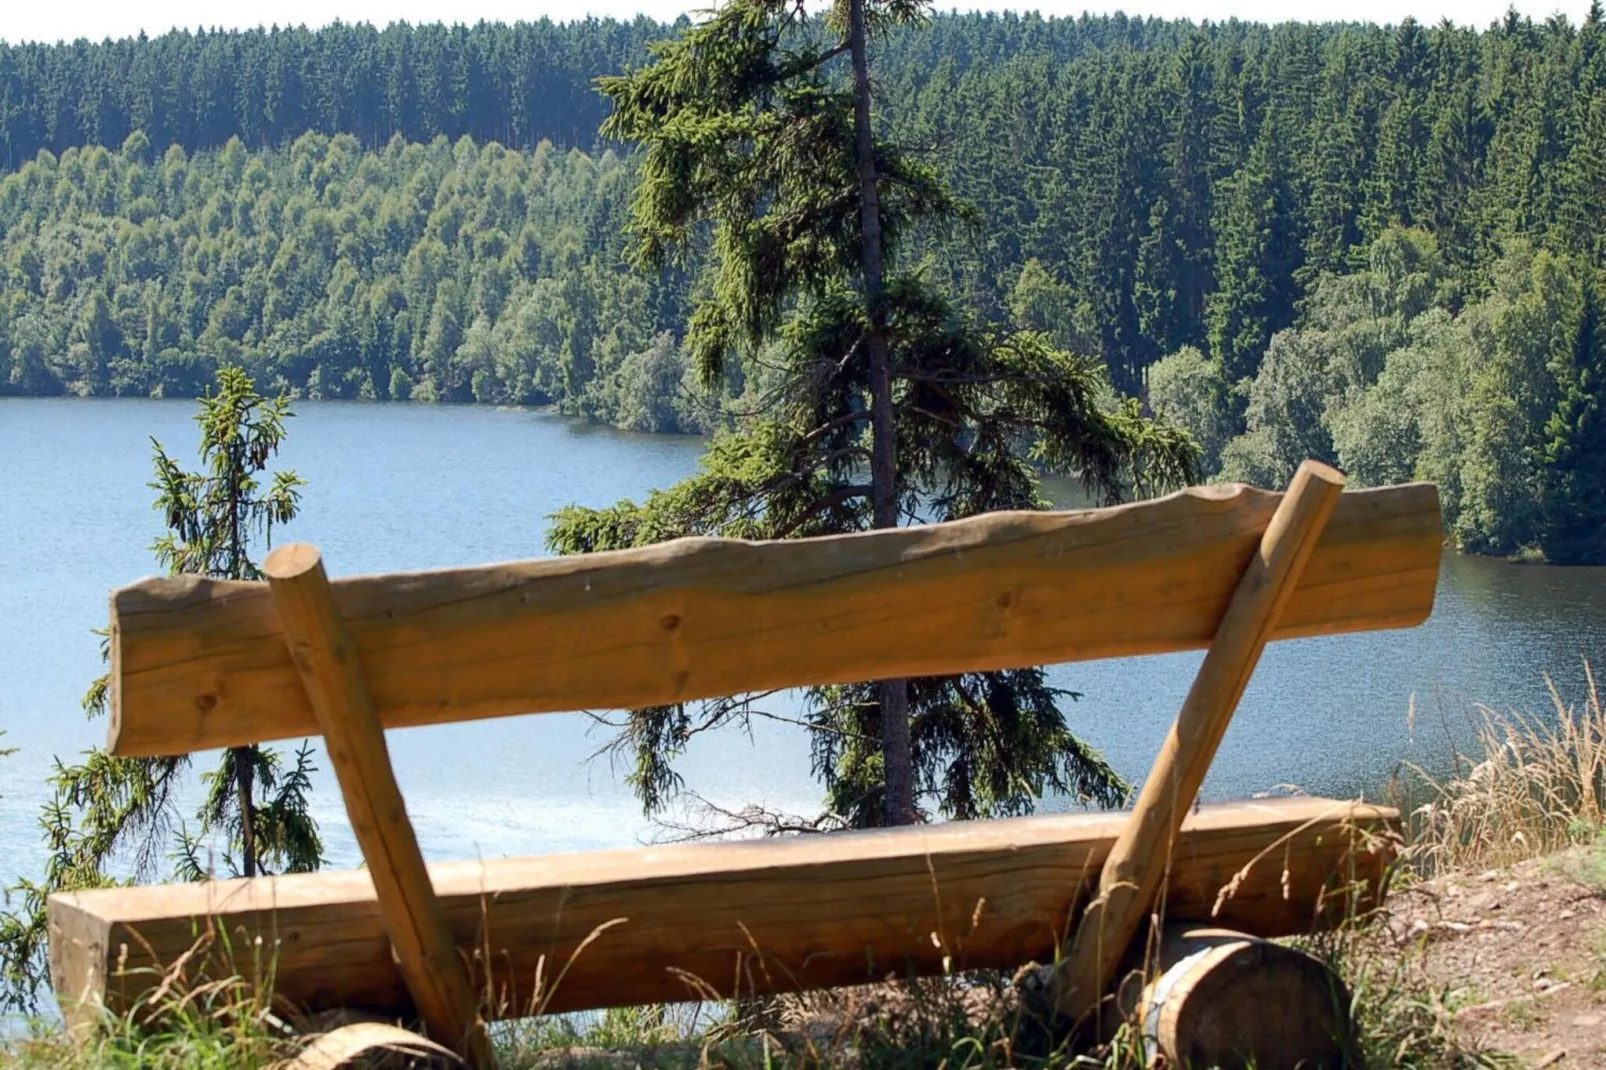
M1301 464L1261 537L1259 553L1241 572L1182 712L1103 863L1099 892L1057 967L1055 1004L1066 1019L1081 1020L1097 1007L1148 916L1182 819L1343 490L1338 471L1317 461Z

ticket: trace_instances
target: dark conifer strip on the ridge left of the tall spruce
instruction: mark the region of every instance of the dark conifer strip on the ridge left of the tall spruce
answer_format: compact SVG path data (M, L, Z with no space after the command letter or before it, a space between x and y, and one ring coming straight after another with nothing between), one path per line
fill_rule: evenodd
M541 140L589 148L607 104L597 76L646 59L668 27L583 21L170 32L71 45L0 42L0 165L40 149L283 146L308 130L365 148Z

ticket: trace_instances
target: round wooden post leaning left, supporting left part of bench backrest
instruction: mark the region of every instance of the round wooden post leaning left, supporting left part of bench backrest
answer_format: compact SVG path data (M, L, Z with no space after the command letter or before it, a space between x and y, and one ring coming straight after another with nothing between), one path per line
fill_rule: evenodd
M469 972L430 887L361 659L334 604L323 559L315 546L292 543L268 554L263 572L408 993L438 1039L471 1064L493 1067Z

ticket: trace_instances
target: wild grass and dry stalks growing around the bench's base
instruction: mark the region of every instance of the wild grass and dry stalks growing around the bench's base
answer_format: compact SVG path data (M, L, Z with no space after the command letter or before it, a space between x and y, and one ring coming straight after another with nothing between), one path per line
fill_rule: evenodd
M1606 712L1593 675L1567 702L1551 689L1543 717L1482 710L1476 745L1447 778L1410 770L1397 803L1407 815L1391 903L1453 874L1543 863L1585 895L1606 895ZM1534 872L1532 868L1529 872ZM1505 885L1513 887L1513 885ZM1367 1067L1519 1065L1461 1025L1465 993L1428 969L1431 933L1389 938L1389 909L1312 937L1351 988ZM268 1067L294 1057L318 1023L283 1019L241 983L190 986L180 970L151 1003L67 1036L35 1025L0 1041L18 1067ZM1606 990L1603 969L1585 978ZM151 1007L161 1011L151 1015ZM143 1025L143 1022L159 1025ZM633 1007L589 1017L535 1019L496 1028L503 1067L1142 1067L1126 1025L1095 1051L1042 1044L1015 1012L1007 978L965 975L922 983L719 1006ZM1569 1064L1572 1065L1572 1064Z

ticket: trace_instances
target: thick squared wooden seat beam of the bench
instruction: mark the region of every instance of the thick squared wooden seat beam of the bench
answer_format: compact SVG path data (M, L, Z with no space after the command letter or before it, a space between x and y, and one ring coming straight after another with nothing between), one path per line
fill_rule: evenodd
M519 1017L1010 969L1052 954L1124 821L1047 815L446 863L430 879L477 990L493 993L488 1017ZM1323 798L1206 807L1179 839L1168 917L1309 932L1343 916L1349 895L1376 893L1397 824L1392 810ZM193 948L191 978L271 977L278 998L308 1009L411 1011L361 871L50 901L69 1017L128 1006Z

